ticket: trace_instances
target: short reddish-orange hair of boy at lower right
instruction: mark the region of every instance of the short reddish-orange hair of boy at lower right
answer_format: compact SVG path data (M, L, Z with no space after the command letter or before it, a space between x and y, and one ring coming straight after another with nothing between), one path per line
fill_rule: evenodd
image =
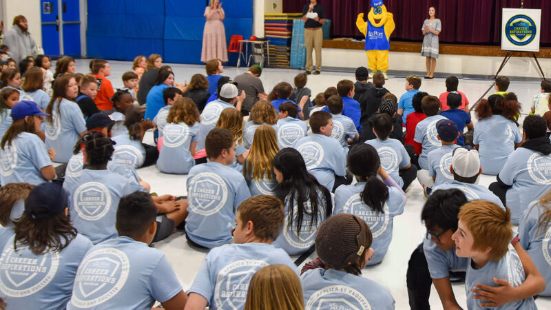
M490 260L500 260L507 253L512 239L509 209L503 210L486 200L473 200L459 209L457 218L470 230L473 250L486 251L491 247Z

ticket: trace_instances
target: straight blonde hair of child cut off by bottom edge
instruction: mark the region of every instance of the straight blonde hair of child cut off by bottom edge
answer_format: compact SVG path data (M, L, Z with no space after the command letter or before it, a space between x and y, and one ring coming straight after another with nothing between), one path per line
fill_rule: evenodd
M295 271L286 265L269 265L254 274L243 310L302 310L302 287Z

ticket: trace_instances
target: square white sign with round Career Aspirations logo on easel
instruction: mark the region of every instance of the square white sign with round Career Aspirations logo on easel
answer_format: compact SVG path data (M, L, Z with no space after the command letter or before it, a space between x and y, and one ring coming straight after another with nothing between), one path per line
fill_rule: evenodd
M541 10L504 8L501 50L539 52Z

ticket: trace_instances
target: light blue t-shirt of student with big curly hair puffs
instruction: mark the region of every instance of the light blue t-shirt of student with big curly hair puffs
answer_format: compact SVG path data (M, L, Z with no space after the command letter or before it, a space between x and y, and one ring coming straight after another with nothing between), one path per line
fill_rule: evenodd
M522 141L517 125L501 115L481 119L475 126L472 143L479 145L480 167L483 174L499 174L514 151L514 143Z

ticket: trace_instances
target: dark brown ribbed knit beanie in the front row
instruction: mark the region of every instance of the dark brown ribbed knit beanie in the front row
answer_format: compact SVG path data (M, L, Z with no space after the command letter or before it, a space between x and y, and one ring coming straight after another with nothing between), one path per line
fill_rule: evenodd
M371 242L373 236L364 220L352 214L337 214L318 229L315 249L324 264L341 269L355 263Z

